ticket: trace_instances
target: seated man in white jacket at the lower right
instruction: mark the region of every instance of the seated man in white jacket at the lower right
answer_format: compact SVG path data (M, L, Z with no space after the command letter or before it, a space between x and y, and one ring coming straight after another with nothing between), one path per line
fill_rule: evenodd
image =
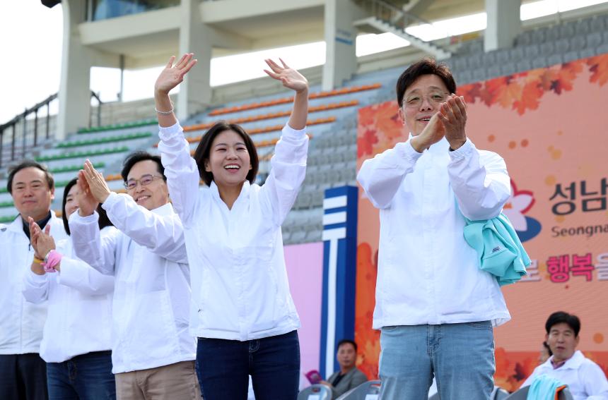
M567 384L575 400L608 400L608 380L602 369L576 350L580 340L580 320L576 315L558 311L545 324L546 343L553 356L534 369L522 384L529 386L540 375Z

